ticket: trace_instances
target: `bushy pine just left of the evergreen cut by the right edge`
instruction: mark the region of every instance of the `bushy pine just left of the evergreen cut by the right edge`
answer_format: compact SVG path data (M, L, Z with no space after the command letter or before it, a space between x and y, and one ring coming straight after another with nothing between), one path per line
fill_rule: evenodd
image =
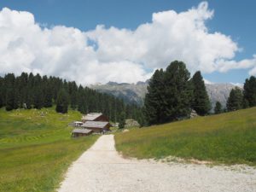
M230 97L227 101L227 109L228 111L235 111L242 108L242 92L241 89L236 87L230 91Z

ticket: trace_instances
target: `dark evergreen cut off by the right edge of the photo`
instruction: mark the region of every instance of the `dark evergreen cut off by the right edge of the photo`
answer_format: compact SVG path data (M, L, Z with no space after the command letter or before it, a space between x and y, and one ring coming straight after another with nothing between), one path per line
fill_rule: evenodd
M256 106L256 78L251 76L250 79L246 79L243 86L244 103L248 107Z

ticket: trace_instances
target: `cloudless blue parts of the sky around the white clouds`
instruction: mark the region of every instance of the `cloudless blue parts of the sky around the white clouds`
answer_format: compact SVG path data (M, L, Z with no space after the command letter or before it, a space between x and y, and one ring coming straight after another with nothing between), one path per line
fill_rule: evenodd
M195 0L2 0L0 9L7 7L11 10L30 12L35 21L40 23L40 26L47 28L67 26L88 32L95 30L97 25L102 24L106 29L114 26L118 29L125 28L133 31L142 24L152 22L154 13L168 10L180 13L192 7L196 8L199 3L201 1ZM253 55L256 54L256 25L254 25L256 2L253 0L215 0L207 1L207 3L208 9L214 10L212 19L205 22L208 32L221 32L237 44L241 51L236 51L232 60L252 59ZM144 66L145 68L148 67ZM149 67L149 70L153 70L153 68L155 66ZM203 72L203 75L205 79L212 82L243 83L249 77L250 69L250 67L238 67L238 69L229 69L226 72L219 72L219 70L210 73ZM65 77L65 74L62 73L61 76ZM124 79L120 81L124 81Z

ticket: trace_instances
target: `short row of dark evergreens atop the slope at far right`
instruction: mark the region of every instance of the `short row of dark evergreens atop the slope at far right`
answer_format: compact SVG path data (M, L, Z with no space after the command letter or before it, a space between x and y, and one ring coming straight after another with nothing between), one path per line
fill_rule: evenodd
M214 112L223 113L236 111L241 108L253 108L256 106L256 78L251 76L245 80L243 89L236 87L230 91L226 108L222 108L220 102L216 102Z

